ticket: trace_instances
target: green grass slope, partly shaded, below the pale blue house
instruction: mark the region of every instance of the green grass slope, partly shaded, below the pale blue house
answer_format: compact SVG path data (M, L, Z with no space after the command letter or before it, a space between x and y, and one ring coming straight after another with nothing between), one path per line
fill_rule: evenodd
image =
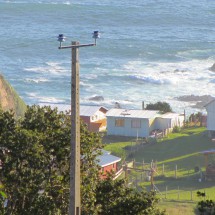
M186 128L180 133L169 134L154 144L138 148L135 148L134 139L111 141L105 146L105 150L125 158L126 161L135 159L140 166L143 161L156 161L157 173L154 183L159 190L158 196L165 200L160 203L160 207L168 208L169 214L195 214L194 205L200 200L196 195L199 190L206 192L206 198L215 200L215 181L199 181L205 171L204 155L200 152L208 149L215 149L215 143L207 137L203 127ZM214 161L215 155L210 155L209 162ZM195 172L195 167L199 167L203 175ZM150 190L150 182L144 180L143 175L141 178L141 174L143 173L131 171L130 181L134 182L136 179L139 186ZM174 201L177 201L177 204Z

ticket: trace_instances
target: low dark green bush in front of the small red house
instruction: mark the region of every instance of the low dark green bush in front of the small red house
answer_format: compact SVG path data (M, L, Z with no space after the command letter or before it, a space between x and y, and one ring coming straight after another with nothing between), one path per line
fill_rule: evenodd
M99 183L96 192L101 215L164 215L156 208L158 199L154 192L129 188L124 179L111 177Z

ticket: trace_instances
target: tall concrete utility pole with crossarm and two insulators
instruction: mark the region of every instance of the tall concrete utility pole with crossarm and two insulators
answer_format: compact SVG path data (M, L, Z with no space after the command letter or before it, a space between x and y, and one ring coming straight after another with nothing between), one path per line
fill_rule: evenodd
M71 59L71 153L70 153L70 198L69 215L81 215L80 197L80 104L79 104L79 48L96 46L96 40L100 38L99 31L94 31L95 42L92 44L80 44L72 42L70 46L62 46L66 40L63 34L58 35L59 49L72 49Z

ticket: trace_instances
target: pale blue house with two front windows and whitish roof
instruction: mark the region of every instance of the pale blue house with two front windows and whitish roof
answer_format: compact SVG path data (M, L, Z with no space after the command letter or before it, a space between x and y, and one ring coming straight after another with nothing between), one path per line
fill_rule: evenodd
M106 113L107 134L148 137L154 130L171 131L184 125L184 114L160 114L155 110L110 109Z

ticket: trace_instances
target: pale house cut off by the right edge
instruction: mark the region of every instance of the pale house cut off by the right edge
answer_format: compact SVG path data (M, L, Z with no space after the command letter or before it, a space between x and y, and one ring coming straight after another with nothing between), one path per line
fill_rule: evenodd
M215 99L205 105L207 111L207 129L215 131Z

